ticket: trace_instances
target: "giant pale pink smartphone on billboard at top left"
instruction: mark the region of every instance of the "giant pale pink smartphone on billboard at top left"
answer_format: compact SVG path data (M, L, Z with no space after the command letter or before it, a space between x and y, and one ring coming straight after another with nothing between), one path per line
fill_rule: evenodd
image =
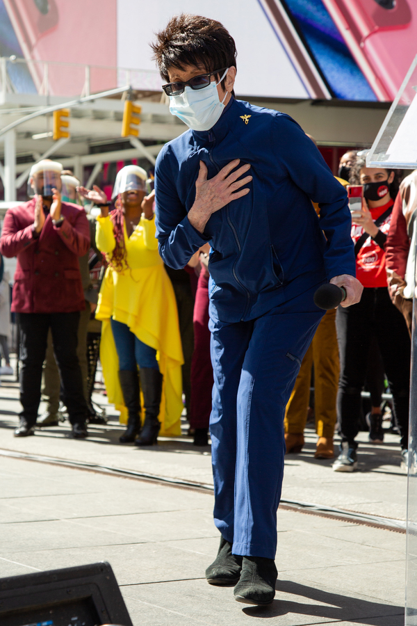
M81 65L102 66L90 70L91 93L117 86L117 0L3 2L38 92L45 93L45 86L44 63L37 61L52 62L51 95L80 94L85 84Z

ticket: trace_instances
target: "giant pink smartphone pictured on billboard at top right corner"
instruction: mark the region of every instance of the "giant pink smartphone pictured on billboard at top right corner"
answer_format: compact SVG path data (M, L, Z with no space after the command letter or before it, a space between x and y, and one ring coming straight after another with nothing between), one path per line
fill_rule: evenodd
M379 100L392 101L416 54L410 0L322 0Z

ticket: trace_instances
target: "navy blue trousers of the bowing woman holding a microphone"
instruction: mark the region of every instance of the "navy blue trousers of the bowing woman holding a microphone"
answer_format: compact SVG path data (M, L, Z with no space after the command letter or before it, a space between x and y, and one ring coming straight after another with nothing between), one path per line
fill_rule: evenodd
M214 522L234 554L275 558L284 412L324 311L316 287L251 321L211 321Z

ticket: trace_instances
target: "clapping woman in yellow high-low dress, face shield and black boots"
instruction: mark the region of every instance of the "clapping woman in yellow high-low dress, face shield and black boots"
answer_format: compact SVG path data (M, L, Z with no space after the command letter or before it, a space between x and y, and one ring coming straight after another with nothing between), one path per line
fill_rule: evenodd
M183 355L177 304L155 239L154 197L145 197L145 170L126 166L118 172L108 212L106 194L80 187L81 195L101 208L96 243L108 268L101 284L96 318L103 322L100 360L108 400L127 409L120 442L156 443L158 433L181 434ZM139 372L138 372L139 368ZM140 388L145 420L140 427ZM124 409L126 407L126 409Z

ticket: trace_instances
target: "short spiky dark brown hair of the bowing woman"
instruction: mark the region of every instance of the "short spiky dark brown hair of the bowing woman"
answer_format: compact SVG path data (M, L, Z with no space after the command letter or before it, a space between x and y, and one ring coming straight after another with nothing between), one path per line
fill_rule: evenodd
M207 73L236 67L234 38L223 24L201 15L175 15L163 31L156 33L151 47L161 77L167 82L170 67L183 70L187 65L202 65Z

